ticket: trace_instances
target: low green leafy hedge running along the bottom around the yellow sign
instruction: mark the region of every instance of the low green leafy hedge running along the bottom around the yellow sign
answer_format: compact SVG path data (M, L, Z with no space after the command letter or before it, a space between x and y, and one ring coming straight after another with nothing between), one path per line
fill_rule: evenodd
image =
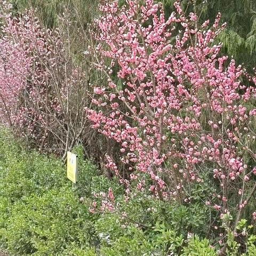
M0 248L33 256L217 255L209 240L187 238L191 230L202 237L206 234L203 191L211 193L208 184L191 187L190 202L183 205L132 187L125 202L124 188L115 178L107 179L85 161L81 147L75 153L79 179L73 189L61 161L24 150L22 142L0 129ZM115 193L115 211L92 214L92 201L101 203L92 193L106 193L109 187ZM247 251L229 235L227 255L255 254L253 226L246 225L246 221L238 223L238 230L250 233L244 238Z

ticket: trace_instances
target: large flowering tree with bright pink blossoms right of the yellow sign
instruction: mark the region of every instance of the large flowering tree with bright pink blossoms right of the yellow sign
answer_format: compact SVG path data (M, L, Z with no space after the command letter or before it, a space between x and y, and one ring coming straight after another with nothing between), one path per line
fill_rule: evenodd
M87 116L94 129L121 144L121 160L138 189L187 202L189 184L212 175L217 190L205 203L221 216L233 210L236 232L256 189L256 78L220 57L221 44L214 45L225 28L220 14L211 28L209 21L199 26L195 13L186 17L179 2L174 5L170 17L153 0L100 6L92 32L99 43L90 50L108 85L95 85L98 110L87 109ZM149 187L143 177L151 179Z

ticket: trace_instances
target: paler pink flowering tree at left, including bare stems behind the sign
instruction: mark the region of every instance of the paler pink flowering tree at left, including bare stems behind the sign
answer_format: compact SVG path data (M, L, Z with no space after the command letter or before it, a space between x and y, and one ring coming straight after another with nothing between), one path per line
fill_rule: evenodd
M1 7L1 123L65 159L87 124L90 67L71 60L67 19L62 29L50 30L32 9L15 17L11 4Z

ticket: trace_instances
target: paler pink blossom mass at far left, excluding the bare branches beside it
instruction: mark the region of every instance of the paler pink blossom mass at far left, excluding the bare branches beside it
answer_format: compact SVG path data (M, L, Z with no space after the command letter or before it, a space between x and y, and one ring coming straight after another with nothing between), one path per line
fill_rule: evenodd
M47 67L56 65L52 55L60 42L53 46L52 31L42 29L32 11L18 18L12 17L10 4L2 7L5 23L0 39L1 122L26 126L31 138L40 138L38 127L42 129L52 122L46 117L44 105L56 115L61 111Z

